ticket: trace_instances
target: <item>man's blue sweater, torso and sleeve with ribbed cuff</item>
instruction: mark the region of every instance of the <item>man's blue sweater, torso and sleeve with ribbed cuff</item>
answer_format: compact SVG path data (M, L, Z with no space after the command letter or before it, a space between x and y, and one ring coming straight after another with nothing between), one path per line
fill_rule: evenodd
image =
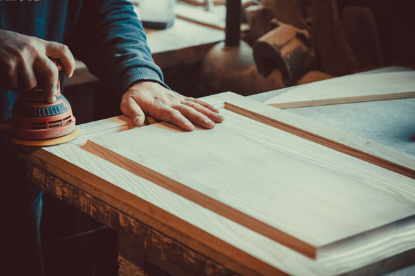
M138 80L163 83L126 0L0 0L0 29L66 44L119 95ZM0 119L10 117L16 97L0 90Z

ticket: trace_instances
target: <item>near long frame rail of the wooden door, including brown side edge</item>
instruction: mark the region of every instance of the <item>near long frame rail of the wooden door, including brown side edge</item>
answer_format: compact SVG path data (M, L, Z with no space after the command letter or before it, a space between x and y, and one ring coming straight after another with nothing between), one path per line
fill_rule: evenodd
M315 271L311 275L330 275L311 259L76 146L26 150L22 157L53 173L57 184L66 181L242 275L282 275L286 269L296 275L307 270ZM52 182L43 177L39 181ZM57 187L58 197L62 192ZM121 228L129 227L131 221L120 224ZM301 264L293 266L291 262Z

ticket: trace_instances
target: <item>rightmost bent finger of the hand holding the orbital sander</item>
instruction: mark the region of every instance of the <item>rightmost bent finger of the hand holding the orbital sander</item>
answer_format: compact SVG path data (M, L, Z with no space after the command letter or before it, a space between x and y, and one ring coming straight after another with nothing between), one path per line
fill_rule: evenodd
M72 77L73 71L75 70L75 58L68 46L57 42L46 41L45 51L47 57L59 59L64 66L66 77Z

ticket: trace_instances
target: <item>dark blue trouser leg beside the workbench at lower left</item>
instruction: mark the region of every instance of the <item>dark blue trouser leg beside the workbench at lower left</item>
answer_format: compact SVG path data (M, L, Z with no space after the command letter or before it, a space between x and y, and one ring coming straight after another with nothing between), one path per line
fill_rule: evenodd
M18 146L0 137L1 275L44 275L40 243L43 191L28 184Z

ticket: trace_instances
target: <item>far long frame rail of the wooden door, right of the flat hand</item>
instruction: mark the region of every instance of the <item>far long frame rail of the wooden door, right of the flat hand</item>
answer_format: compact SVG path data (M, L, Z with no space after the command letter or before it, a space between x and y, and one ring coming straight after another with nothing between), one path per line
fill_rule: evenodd
M288 111L266 106L232 92L224 92L216 97L225 102L227 110L398 172L401 175L415 178L415 157L405 152L376 144L368 139L325 126Z

